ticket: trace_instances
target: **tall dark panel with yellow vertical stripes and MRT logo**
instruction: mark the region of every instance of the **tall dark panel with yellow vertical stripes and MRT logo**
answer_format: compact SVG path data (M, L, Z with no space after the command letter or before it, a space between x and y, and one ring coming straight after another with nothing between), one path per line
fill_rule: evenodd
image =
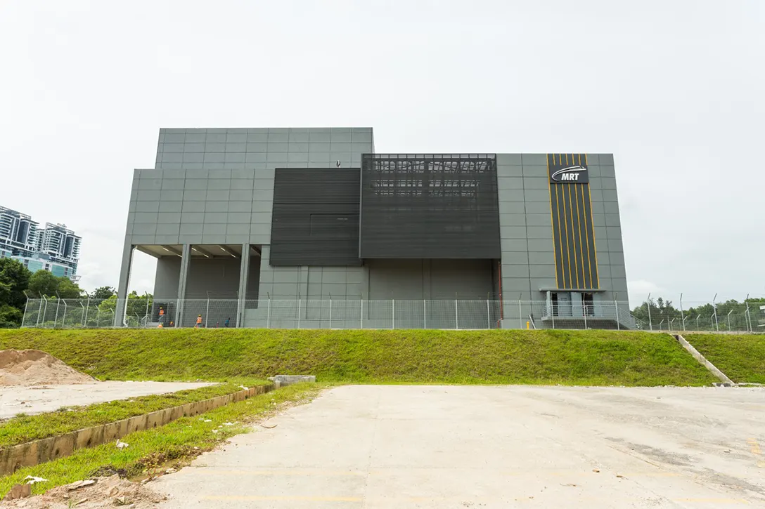
M584 154L549 154L550 213L558 288L597 290L597 254L592 222L587 157ZM561 169L578 168L578 179L559 181ZM578 183L576 183L578 181Z

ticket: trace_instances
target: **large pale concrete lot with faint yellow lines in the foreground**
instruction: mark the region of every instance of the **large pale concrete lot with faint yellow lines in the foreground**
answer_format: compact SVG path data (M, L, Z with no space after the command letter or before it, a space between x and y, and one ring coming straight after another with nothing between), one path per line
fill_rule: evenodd
M164 509L765 507L765 390L346 386L152 483Z

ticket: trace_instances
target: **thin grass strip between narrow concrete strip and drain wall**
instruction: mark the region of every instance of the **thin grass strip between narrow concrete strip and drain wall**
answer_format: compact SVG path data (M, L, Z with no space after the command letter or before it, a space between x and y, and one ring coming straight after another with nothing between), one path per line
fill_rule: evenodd
M255 382L252 385L265 382ZM218 384L170 394L155 394L97 403L86 407L61 407L55 412L37 415L19 414L0 423L0 449L32 440L58 436L82 430L90 426L113 423L143 413L177 407L195 401L209 400L216 396L241 391L236 384Z

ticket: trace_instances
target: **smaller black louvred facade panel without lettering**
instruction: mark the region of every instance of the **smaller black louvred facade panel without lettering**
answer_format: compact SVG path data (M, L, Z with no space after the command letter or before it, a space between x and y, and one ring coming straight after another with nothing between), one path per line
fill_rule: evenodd
M359 168L277 168L274 266L360 265Z

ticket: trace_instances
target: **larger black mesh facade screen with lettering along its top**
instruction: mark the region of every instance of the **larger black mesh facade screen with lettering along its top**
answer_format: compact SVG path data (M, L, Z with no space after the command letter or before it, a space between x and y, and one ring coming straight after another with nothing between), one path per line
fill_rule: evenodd
M496 154L363 154L361 258L500 258Z

